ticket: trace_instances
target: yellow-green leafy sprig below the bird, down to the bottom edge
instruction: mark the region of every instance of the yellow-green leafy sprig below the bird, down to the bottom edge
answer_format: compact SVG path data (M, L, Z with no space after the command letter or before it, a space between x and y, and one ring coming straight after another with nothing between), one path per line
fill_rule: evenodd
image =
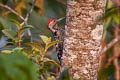
M32 46L32 51L27 56L29 58L32 58L35 61L35 63L39 66L38 70L39 70L40 76L45 76L46 78L49 78L49 80L52 80L53 77L48 74L48 68L46 68L48 66L46 66L45 64L52 63L59 68L61 66L59 64L57 64L56 61L47 58L45 55L46 55L46 52L48 51L48 48L50 48L51 46L53 46L57 43L60 43L61 41L51 42L51 37L47 37L47 36L43 36L43 35L41 35L40 37L43 40L43 42L45 43L45 46L42 46L37 43L26 43L26 45ZM52 79L51 79L51 77L52 77Z

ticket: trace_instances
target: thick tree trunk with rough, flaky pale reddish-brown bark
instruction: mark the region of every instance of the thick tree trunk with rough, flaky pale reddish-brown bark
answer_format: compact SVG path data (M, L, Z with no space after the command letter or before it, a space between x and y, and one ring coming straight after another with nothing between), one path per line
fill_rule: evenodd
M63 67L71 66L75 80L97 80L103 22L93 25L104 13L105 0L68 0Z

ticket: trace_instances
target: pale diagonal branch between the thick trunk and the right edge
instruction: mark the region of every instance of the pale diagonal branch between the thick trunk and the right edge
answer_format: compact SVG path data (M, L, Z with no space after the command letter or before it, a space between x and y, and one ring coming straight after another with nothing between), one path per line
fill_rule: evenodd
M102 50L101 53L105 53L108 49L110 49L113 45L115 45L120 40L120 36L114 38L109 44L107 44Z

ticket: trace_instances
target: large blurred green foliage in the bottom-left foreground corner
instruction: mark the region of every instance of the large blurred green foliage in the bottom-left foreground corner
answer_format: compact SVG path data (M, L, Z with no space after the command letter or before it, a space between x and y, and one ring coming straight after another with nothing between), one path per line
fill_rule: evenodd
M0 54L0 80L37 80L35 66L20 48Z

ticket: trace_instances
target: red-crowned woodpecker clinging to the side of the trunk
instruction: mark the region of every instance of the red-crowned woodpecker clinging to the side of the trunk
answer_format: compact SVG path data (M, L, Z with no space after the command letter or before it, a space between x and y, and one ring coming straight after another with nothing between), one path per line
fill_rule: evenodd
M51 19L48 21L47 28L52 32L55 41L63 41L63 31L58 27L57 20ZM58 60L61 64L63 55L63 42L55 45Z

